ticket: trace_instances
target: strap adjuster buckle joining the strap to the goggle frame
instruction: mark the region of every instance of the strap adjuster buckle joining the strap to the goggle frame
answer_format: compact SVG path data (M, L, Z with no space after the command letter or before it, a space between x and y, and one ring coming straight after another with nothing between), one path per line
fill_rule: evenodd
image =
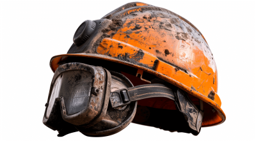
M113 108L131 103L127 89L119 89L110 94L109 101Z

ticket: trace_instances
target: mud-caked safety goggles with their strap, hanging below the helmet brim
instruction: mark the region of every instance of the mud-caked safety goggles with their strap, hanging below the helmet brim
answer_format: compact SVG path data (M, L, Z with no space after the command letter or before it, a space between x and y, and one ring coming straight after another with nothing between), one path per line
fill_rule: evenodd
M58 130L59 136L76 131L87 136L112 135L131 123L138 100L164 97L175 101L189 130L199 133L202 101L198 108L184 91L163 83L133 87L121 73L100 66L62 64L52 78L43 123Z

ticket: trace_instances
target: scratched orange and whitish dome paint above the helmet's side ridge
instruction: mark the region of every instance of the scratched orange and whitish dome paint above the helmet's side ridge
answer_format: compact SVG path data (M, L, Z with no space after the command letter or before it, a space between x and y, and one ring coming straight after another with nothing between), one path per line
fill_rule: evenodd
M207 64L215 73L216 64L211 50L198 31L174 15L168 15L168 18L157 17L159 13L161 12L139 11L134 13L135 16L123 17L124 26L117 31L113 39L140 47L189 72L194 73L193 68ZM166 13L162 13L164 14ZM165 56L164 49L168 49L170 55ZM198 62L200 55L196 52L204 54L207 61L202 59Z

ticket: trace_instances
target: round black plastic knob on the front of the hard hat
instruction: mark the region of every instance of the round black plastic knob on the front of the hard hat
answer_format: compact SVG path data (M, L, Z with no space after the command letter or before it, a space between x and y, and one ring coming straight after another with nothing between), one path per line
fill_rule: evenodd
M74 34L73 41L77 46L81 46L85 43L90 36L92 35L94 29L96 27L96 23L92 20L84 21L76 30Z

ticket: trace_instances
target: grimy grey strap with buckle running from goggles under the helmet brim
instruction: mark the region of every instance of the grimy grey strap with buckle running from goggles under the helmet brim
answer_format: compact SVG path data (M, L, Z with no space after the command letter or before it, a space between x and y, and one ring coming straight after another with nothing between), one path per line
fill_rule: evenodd
M200 132L204 116L204 106L200 100L200 109L191 102L186 92L181 89L172 90L164 84L144 84L128 89L119 89L110 95L110 104L113 108L122 107L131 102L153 97L165 97L173 100L180 112L184 115L189 128Z

